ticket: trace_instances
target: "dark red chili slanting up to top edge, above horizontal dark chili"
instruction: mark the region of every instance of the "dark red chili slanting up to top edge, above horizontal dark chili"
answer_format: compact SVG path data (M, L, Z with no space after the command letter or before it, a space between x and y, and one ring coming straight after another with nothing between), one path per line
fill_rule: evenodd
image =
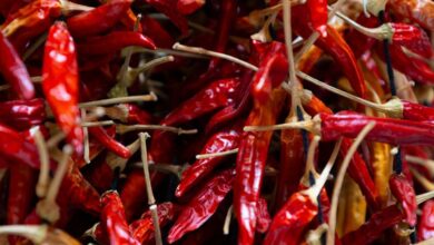
M102 33L111 29L127 13L131 2L131 0L114 0L68 18L68 29L76 38Z

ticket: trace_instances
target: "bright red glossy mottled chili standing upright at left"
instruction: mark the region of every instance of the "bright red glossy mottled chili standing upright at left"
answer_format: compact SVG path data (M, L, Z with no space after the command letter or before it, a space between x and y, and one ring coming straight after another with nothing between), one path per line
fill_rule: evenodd
M78 109L78 69L76 47L63 22L56 22L48 33L42 67L42 89L55 117L73 146L83 150L83 135Z

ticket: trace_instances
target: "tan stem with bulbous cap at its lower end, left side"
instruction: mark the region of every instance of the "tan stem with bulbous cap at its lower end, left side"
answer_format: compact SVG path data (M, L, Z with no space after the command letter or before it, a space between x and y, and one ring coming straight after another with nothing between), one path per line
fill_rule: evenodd
M63 155L56 170L55 177L48 188L47 195L43 199L37 204L37 214L43 219L55 223L60 218L59 206L56 203L56 196L59 192L60 184L63 179L65 174L69 167L69 157L72 154L72 147L66 145L63 147Z

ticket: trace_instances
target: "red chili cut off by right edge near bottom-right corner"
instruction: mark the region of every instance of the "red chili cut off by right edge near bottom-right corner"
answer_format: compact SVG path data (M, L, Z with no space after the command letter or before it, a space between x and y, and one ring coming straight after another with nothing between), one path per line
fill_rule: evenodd
M422 216L417 226L418 241L434 237L434 200L428 200L422 208Z

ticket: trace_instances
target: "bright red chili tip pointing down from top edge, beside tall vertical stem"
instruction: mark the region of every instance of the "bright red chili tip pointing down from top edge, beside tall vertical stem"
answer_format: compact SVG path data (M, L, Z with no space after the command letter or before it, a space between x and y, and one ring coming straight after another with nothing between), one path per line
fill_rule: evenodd
M323 37L327 35L327 1L325 0L307 0L307 14L309 17L309 26L318 31Z

